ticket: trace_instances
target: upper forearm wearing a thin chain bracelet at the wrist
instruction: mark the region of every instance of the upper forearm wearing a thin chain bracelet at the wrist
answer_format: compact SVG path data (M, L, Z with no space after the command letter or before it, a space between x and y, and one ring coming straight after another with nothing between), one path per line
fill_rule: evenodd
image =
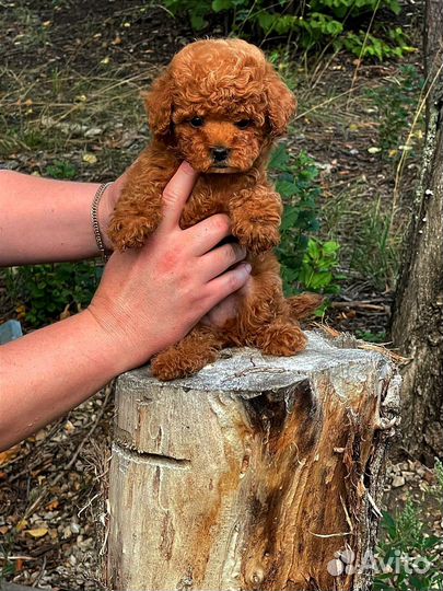
M0 266L98 255L91 223L98 186L0 171ZM104 237L112 209L103 198L98 221Z

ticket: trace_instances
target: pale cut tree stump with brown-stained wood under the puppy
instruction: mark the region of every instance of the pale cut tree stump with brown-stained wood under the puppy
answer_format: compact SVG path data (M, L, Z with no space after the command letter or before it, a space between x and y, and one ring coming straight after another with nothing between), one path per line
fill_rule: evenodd
M292 358L229 349L186 380L119 378L109 589L370 588L399 378L308 337Z

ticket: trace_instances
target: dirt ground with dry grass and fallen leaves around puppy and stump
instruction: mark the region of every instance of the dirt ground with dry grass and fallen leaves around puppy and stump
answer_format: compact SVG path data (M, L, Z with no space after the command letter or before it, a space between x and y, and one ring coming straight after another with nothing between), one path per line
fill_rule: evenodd
M420 5L405 3L401 20L418 47ZM2 1L0 27L0 167L43 175L62 161L77 178L100 182L114 179L147 143L140 91L194 38L182 19L159 5L125 0ZM211 32L222 33L222 26ZM406 62L421 73L420 51ZM394 93L403 85L404 65L362 65L343 54L290 60L299 113L288 144L316 161L322 234L338 240L342 252L341 291L325 322L378 341L388 341L394 277L420 162L420 121L401 174L398 153L382 159L377 151L383 89ZM406 130L417 102L413 95ZM390 130L401 131L397 143L405 129ZM0 320L16 317L15 305L0 285ZM97 588L89 572L97 558L94 520L103 519L100 483L113 412L107 387L0 454L0 567L7 580L60 591ZM401 453L400 442L393 457L386 502L395 508L409 494L419 498L433 477Z

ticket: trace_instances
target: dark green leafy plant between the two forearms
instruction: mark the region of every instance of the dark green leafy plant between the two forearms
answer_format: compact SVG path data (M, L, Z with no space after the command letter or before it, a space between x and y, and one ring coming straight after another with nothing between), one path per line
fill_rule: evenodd
M3 270L7 289L25 306L25 320L38 328L59 320L68 310L85 308L98 283L101 269L93 263L33 265Z

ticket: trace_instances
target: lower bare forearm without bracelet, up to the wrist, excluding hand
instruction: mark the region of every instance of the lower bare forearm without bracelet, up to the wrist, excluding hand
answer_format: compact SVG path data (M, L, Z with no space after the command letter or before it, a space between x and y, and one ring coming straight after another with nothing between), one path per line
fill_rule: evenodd
M81 404L129 367L125 347L103 332L89 310L3 345L0 451Z

